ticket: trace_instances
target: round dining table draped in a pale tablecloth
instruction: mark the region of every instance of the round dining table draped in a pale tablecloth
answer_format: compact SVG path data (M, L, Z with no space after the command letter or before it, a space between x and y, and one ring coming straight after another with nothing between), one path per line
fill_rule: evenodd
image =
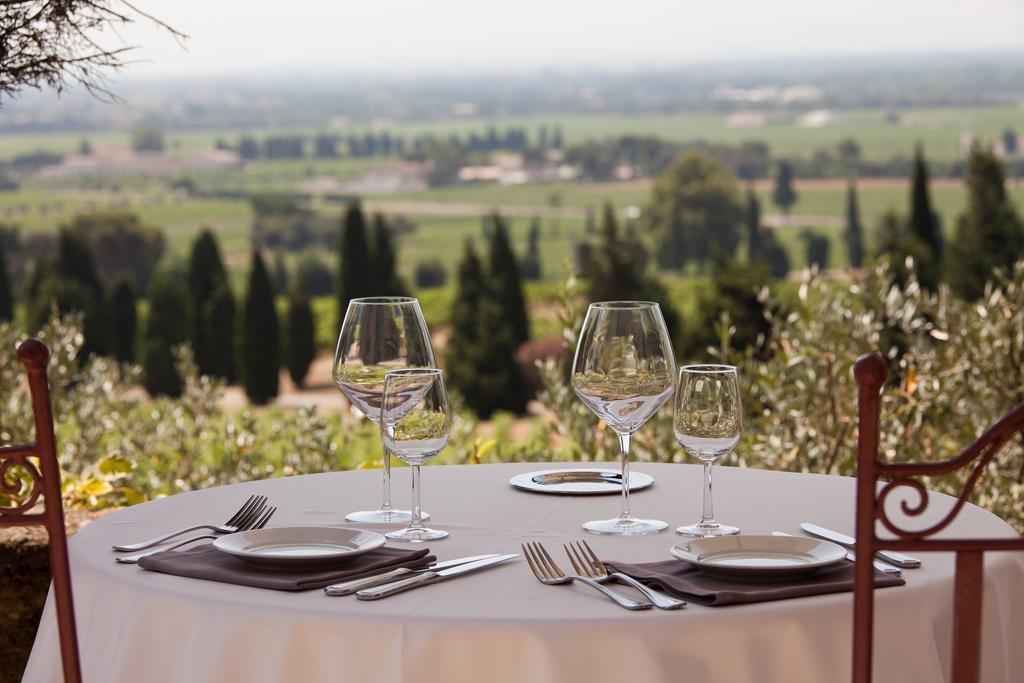
M589 536L588 519L617 514L620 497L568 497L513 488L518 473L587 463L427 467L429 524L451 532L430 544L439 560L519 553L541 542L564 562L563 543L586 537L605 560L671 559L671 529L699 517L696 465L634 465L654 485L631 496L636 514L670 523L645 537ZM592 464L589 466L593 467ZM394 470L402 500L409 470ZM520 556L505 564L376 601L186 579L118 564L113 544L197 523L219 523L251 494L278 507L271 526L344 525L345 513L378 502L380 471L283 477L221 486L115 511L70 542L85 681L672 682L850 680L853 594L756 604L628 611L581 584L546 586ZM800 535L799 524L853 532L848 477L722 467L719 518L743 532ZM933 495L924 520L953 499ZM384 530L386 526L364 525ZM943 536L1016 537L973 505ZM395 545L389 543L389 545ZM408 547L408 546L403 546ZM953 556L926 553L904 586L878 589L874 680L946 681L952 636ZM632 589L621 587L624 592ZM636 594L634 594L636 595ZM1024 680L1024 557L985 559L982 675ZM52 595L25 681L59 681Z

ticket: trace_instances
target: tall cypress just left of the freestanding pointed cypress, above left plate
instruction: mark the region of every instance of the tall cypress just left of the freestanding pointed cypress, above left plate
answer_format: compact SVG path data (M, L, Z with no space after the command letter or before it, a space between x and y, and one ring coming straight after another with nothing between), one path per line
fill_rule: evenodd
M216 364L213 356L222 355L221 345L233 346L233 335L226 339L215 338L206 326L206 307L214 291L227 283L227 271L221 259L217 238L209 228L204 228L193 243L188 257L188 335L191 340L196 365L203 375L229 379L230 368ZM233 318L231 321L233 329Z

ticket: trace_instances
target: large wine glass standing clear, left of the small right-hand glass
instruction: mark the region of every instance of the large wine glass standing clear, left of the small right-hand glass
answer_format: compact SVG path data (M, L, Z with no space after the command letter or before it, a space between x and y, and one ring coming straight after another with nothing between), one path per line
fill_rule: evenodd
M668 522L630 513L630 439L672 395L676 359L662 308L649 301L590 304L572 360L572 390L618 435L623 512L586 522L592 533L656 533Z

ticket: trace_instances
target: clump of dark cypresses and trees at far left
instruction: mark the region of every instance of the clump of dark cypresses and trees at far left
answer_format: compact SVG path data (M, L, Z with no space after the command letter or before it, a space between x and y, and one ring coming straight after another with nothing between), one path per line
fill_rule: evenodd
M278 371L283 365L296 384L302 383L315 346L312 310L301 276L294 279L289 292L288 325L283 336L271 281L262 256L254 250L242 325L238 326L238 304L210 230L203 230L196 239L187 267L172 265L137 278L129 270L112 281L102 275L99 266L112 262L111 253L100 250L117 246L118 240L108 228L97 228L92 240L87 230L80 229L79 223L92 225L96 220L96 216L83 216L61 228L52 255L30 268L20 287L29 329L44 327L54 311L80 312L84 317L83 357L110 355L140 364L143 385L153 395L181 393L174 349L183 343L191 346L202 374L229 382L241 377L256 403L276 395ZM147 229L138 232L148 234ZM137 241L132 240L138 237L135 232L114 234L120 234L126 253L131 251L130 245L138 251ZM0 241L0 321L13 319L15 312L6 263ZM106 282L113 282L110 288L104 286ZM141 316L139 292L147 299ZM283 354L282 347L287 353Z

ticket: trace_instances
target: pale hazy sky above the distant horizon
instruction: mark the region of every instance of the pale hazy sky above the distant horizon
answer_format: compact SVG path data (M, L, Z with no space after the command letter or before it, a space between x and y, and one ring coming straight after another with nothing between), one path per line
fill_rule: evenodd
M131 76L633 68L1024 48L1024 0L136 0Z

